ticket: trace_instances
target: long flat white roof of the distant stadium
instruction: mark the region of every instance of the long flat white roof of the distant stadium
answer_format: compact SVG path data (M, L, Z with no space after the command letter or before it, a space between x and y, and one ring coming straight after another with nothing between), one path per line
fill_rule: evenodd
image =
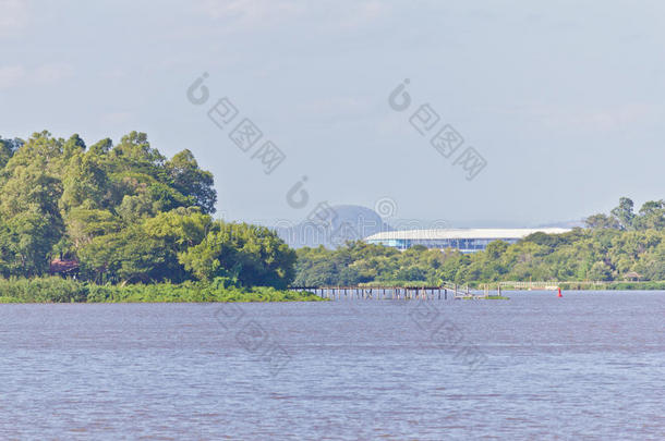
M390 240L446 240L446 238L522 238L533 233L561 234L570 229L437 229L385 231L365 237L365 241Z

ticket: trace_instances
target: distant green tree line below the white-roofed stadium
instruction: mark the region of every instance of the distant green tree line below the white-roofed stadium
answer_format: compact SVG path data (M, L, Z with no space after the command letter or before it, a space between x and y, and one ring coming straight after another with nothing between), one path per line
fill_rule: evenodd
M636 213L632 200L621 198L609 215L589 217L587 226L532 234L513 245L496 241L475 254L423 246L400 252L363 242L336 250L301 248L294 284L665 280L665 200Z

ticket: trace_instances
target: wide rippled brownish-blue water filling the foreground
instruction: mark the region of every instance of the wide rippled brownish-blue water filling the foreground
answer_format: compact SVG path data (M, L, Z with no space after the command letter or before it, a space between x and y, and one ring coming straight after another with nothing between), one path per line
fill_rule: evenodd
M0 439L665 433L665 292L0 305Z

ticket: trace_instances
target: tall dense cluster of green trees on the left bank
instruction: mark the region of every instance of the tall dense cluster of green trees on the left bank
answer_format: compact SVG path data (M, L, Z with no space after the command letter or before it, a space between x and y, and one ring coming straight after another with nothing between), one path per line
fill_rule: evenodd
M89 147L0 137L0 274L286 287L295 253L266 228L214 220L213 183L190 150L168 159L144 133Z

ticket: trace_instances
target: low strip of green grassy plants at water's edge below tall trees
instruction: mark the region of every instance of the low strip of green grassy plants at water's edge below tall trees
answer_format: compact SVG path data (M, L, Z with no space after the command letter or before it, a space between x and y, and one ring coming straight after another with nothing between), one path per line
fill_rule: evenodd
M228 286L225 281L95 285L71 279L0 279L0 303L312 302L312 293Z

